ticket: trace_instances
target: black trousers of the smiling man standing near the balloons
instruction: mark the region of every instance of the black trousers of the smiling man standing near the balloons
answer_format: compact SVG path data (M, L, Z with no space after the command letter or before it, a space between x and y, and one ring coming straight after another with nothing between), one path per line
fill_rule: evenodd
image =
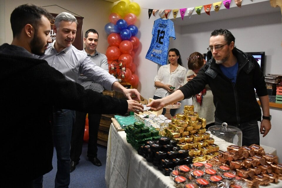
M85 131L85 119L86 114L84 112L76 111L76 120L72 130L71 144L70 144L70 159L78 162L83 146L83 137ZM88 158L97 157L97 140L98 130L100 125L101 114L88 113L88 125L89 125L89 141L88 141Z

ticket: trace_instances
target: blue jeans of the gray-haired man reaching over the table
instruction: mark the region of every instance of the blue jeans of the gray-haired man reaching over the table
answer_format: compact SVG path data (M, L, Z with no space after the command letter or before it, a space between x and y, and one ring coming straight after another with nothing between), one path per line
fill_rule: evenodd
M67 188L70 184L70 139L73 123L75 122L75 111L56 110L53 112L54 145L57 152L55 188Z

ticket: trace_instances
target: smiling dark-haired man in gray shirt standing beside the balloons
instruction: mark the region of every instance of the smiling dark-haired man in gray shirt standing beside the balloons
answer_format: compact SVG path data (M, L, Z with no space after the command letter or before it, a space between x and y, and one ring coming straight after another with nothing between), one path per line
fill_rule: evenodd
M99 34L95 29L88 29L85 32L85 37L83 42L85 43L85 48L83 52L99 67L109 71L108 59L103 53L97 52L96 48L98 46ZM103 85L96 83L94 80L90 80L84 75L78 77L78 83L82 85L85 89L92 89L99 93L104 90ZM80 155L83 146L83 136L85 130L85 112L76 111L75 112L75 124L72 130L71 142L70 142L70 172L75 170L78 161L80 160ZM97 140L98 140L98 130L100 125L101 114L88 113L88 125L89 125L89 140L88 140L88 159L96 166L101 166L102 163L97 157Z

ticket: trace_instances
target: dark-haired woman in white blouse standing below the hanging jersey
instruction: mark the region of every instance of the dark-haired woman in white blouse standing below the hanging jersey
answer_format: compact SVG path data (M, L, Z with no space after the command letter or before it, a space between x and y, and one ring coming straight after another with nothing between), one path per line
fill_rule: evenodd
M164 98L172 94L175 90L184 85L186 80L187 69L183 67L179 51L176 48L171 48L168 51L168 64L159 68L155 76L154 86L156 91L153 99ZM162 114L165 114L166 109L163 109ZM170 110L170 115L174 116L176 109Z

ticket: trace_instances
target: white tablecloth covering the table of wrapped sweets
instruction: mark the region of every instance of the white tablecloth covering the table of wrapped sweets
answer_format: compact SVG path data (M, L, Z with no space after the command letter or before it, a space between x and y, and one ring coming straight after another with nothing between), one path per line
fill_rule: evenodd
M215 144L219 145L221 150L231 145L222 140L215 140ZM273 148L269 150L274 152ZM105 173L107 188L175 188L169 176L164 176L157 167L139 155L127 143L126 133L117 131L113 124L109 131ZM281 188L282 181L260 187Z

